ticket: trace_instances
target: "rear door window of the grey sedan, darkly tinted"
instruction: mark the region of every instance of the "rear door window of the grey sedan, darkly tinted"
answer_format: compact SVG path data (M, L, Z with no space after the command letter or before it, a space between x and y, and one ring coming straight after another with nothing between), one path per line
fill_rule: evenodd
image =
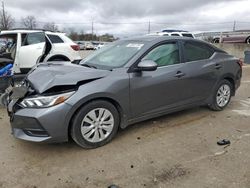
M185 42L184 51L187 62L209 59L214 53L211 48L198 42Z

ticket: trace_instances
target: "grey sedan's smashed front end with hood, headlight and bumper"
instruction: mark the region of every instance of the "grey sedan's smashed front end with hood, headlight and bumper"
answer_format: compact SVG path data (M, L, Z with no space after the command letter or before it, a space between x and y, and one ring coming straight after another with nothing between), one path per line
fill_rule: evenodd
M109 71L64 63L40 64L32 69L19 87L6 93L14 137L47 143L67 141L67 116L72 106L66 100L81 85L107 74Z

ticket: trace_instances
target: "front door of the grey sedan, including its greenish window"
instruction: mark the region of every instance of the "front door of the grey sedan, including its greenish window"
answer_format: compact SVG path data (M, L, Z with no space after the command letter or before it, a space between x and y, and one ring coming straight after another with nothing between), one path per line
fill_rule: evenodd
M162 44L143 60L157 63L155 71L129 73L132 118L159 114L185 103L187 89L178 42Z

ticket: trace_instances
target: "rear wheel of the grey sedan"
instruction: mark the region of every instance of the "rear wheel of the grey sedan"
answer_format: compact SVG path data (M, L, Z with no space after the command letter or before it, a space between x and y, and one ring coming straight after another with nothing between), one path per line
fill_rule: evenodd
M213 93L212 103L209 104L209 108L213 111L222 111L229 104L232 93L233 85L231 82L228 80L220 81Z

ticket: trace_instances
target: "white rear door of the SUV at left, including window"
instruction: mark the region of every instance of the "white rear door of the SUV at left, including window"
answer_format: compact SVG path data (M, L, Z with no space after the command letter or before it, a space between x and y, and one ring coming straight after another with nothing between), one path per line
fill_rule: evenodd
M45 33L34 32L22 34L22 44L18 53L21 72L27 72L41 58L45 49Z

